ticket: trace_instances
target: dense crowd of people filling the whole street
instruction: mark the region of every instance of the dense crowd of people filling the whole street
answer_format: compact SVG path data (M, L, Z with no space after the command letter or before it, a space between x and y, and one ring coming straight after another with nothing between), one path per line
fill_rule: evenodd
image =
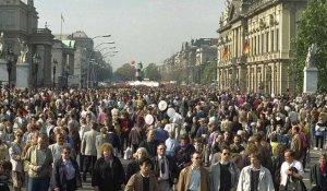
M0 190L327 191L326 94L1 89ZM126 166L122 162L126 159Z

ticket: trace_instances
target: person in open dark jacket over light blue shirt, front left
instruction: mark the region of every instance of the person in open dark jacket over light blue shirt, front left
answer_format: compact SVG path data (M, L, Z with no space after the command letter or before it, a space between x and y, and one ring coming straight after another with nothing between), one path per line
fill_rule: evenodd
M64 146L61 158L55 162L51 186L53 191L75 191L82 187L82 179L77 162L71 156L71 147Z

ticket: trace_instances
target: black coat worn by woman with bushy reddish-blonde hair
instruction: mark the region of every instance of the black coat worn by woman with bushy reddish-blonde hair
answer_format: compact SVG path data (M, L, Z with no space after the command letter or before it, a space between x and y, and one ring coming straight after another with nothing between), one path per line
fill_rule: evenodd
M112 165L100 157L96 160L92 175L92 187L99 187L99 191L120 191L125 183L125 171L118 157L112 156Z

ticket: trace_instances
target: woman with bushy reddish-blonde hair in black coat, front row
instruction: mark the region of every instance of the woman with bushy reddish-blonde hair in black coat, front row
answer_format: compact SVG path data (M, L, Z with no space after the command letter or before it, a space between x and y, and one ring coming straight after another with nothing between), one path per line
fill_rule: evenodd
M92 174L92 186L95 191L120 191L124 188L125 172L120 159L113 156L109 143L101 145L101 155L96 160Z

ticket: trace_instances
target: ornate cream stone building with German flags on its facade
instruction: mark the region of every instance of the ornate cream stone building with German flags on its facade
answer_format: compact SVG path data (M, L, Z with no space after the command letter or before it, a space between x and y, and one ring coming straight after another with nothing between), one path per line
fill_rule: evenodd
M292 92L291 40L305 7L306 0L227 0L217 31L219 88Z

